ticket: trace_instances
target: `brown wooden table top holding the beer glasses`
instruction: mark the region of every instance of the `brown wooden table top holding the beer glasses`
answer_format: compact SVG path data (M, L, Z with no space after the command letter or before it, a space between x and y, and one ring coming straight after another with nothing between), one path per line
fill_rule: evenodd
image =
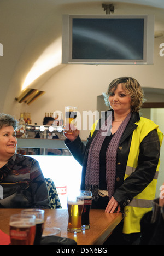
M0 209L0 229L9 234L10 215L20 212L21 209ZM72 234L67 231L67 210L45 209L45 226L61 228L61 237L74 239L77 245L102 245L121 220L121 213L105 213L104 210L91 209L90 229Z

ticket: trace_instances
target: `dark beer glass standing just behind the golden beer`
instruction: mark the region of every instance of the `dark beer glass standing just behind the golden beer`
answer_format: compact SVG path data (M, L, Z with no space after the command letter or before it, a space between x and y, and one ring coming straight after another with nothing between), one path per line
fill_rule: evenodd
M80 191L81 195L84 196L84 207L81 216L82 229L90 228L90 208L92 204L92 192L91 191Z

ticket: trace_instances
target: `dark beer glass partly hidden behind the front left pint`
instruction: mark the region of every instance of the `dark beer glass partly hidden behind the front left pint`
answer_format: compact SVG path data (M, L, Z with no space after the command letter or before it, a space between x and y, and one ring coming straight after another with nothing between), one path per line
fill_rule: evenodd
M33 245L40 245L40 240L44 228L44 210L42 209L24 209L21 211L22 214L32 214L36 216L36 235Z

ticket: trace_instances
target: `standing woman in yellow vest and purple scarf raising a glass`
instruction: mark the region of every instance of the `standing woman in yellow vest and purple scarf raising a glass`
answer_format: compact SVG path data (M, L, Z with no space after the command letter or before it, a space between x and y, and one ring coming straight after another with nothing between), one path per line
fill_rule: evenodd
M139 115L144 93L136 79L114 79L104 100L110 110L93 124L86 146L74 129L64 132L65 144L83 166L80 189L92 191L92 208L125 213L108 243L131 245L151 210L163 134Z

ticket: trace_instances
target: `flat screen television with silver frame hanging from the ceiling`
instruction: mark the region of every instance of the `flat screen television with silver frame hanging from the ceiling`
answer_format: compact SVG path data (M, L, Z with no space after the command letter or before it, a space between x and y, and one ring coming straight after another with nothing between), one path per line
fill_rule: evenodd
M62 63L153 64L153 15L63 15Z

